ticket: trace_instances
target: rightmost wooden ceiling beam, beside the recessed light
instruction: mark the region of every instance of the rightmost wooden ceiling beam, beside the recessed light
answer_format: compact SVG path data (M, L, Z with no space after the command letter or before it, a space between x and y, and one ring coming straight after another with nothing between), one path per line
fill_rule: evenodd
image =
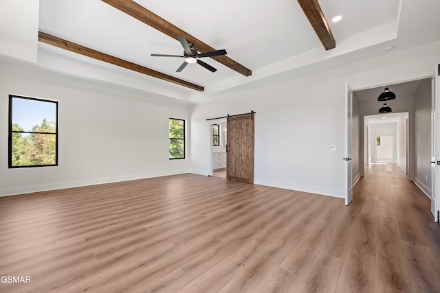
M326 50L336 47L335 38L331 34L331 30L324 13L322 13L318 0L298 0L301 8L309 19L311 26L314 28L318 38L321 40Z

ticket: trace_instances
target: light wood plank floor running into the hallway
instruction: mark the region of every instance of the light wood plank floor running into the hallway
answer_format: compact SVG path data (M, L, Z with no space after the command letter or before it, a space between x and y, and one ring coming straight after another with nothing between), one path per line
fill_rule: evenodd
M440 292L440 226L395 165L349 207L182 174L0 198L0 292Z

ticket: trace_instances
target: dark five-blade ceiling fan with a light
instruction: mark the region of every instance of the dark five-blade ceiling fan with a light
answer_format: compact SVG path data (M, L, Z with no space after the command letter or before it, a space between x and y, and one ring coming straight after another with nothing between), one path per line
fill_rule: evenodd
M176 70L176 72L180 72L184 70L186 65L188 63L197 63L209 71L215 72L217 69L212 67L211 65L201 61L199 58L203 57L212 57L212 56L220 56L225 55L226 50L215 50L215 51L208 51L204 53L199 53L196 49L194 49L194 44L191 42L188 42L184 36L177 35L177 39L180 41L181 46L184 47L184 56L180 55L164 55L164 54L151 54L153 57L179 57L179 58L185 58L185 61L180 65L180 67Z

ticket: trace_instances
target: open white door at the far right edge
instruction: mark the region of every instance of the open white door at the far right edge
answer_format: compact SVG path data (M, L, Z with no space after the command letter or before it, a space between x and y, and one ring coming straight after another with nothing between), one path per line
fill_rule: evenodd
M440 122L439 113L437 112L437 105L440 99L440 65L437 65L435 78L432 80L432 108L431 108L431 213L434 216L434 221L439 222L439 196L437 189L437 182L440 182L440 172L437 172L437 164L440 164L440 135L437 135L437 130L440 130L438 125Z

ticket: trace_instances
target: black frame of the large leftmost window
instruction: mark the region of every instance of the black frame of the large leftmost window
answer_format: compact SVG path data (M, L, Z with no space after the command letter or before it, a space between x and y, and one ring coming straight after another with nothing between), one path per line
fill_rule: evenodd
M17 131L12 130L12 100L14 98L19 99L30 99L33 101L39 101L39 102L47 102L47 103L54 103L55 104L55 132L32 132L32 131ZM58 166L58 101L50 100L50 99L40 99L36 97L25 97L21 95L9 95L9 113L8 113L9 121L8 121L8 168L9 169L16 169L16 168L33 168L33 167L53 167ZM47 164L47 165L25 165L25 166L14 166L12 165L12 134L13 133L25 133L25 134L53 134L55 135L55 163L54 164Z

